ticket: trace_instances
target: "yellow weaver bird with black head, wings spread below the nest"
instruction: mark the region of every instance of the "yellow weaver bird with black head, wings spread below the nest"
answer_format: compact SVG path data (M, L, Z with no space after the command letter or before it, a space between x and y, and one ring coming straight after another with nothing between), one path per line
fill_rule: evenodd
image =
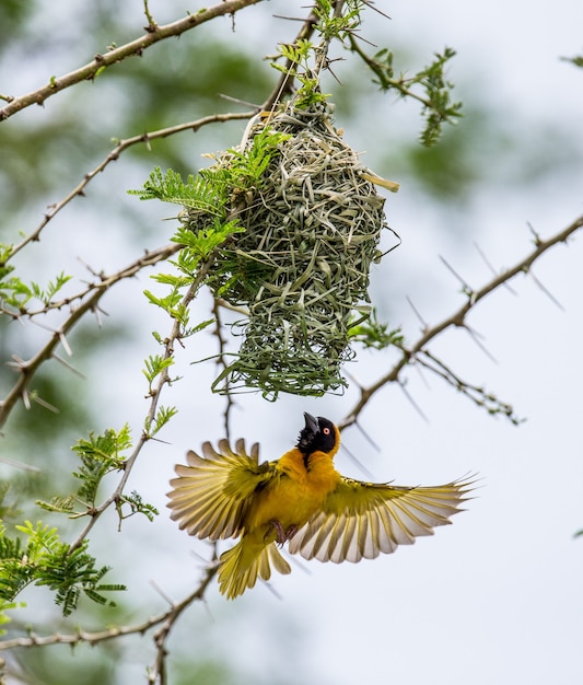
M271 566L289 573L278 545L319 561L360 561L410 545L450 523L470 489L469 480L436 487L398 487L346 478L334 467L340 431L328 419L304 414L298 444L275 462L259 464L237 440L218 451L202 444L176 466L168 492L171 518L190 535L211 541L241 537L219 559L219 589L232 600L269 580Z

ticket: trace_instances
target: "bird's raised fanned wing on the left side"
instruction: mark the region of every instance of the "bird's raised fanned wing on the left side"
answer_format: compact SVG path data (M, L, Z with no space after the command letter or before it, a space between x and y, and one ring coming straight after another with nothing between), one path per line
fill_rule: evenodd
M171 519L200 538L237 537L253 494L275 473L268 462L259 465L259 445L247 454L244 440L237 440L234 452L226 440L219 441L219 451L205 442L202 456L190 450L186 458L188 466L178 464L178 477L170 481Z

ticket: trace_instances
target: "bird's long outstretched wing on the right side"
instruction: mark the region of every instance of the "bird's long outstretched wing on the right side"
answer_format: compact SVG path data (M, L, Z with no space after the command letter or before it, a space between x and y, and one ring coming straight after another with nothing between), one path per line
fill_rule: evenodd
M455 480L407 488L341 478L322 510L290 539L289 550L336 564L374 559L451 523L470 486Z

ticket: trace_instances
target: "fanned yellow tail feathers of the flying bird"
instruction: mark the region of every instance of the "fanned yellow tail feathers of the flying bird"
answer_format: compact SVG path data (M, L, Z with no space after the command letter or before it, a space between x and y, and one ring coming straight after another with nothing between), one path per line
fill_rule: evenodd
M247 588L253 588L257 577L271 578L271 565L280 573L290 573L290 565L279 553L275 543L255 543L243 538L221 555L219 566L219 590L234 600Z

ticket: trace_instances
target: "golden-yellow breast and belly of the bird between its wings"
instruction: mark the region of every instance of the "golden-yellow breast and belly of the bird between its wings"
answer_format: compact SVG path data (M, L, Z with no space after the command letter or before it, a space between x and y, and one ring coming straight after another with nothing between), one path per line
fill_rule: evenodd
M330 455L323 452L312 454L306 465L302 453L291 450L276 466L277 477L254 496L245 522L247 533L268 534L271 521L279 521L284 530L301 527L319 511L340 478Z

